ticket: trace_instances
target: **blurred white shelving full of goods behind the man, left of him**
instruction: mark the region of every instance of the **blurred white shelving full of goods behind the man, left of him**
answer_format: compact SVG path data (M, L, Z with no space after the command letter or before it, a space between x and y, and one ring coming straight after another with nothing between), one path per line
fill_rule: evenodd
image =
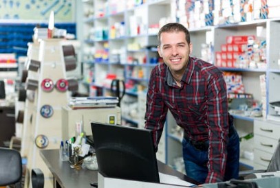
M109 95L111 78L108 77L115 75L114 79L126 82L121 106L129 108L129 104L138 102L138 91L147 88L151 69L158 63L157 27L162 17L170 16L171 0L143 4L84 1L83 11L89 9L93 14L85 14L83 35L84 75L87 70L85 82L89 83L89 95ZM124 124L138 126L132 115L125 113L122 119Z

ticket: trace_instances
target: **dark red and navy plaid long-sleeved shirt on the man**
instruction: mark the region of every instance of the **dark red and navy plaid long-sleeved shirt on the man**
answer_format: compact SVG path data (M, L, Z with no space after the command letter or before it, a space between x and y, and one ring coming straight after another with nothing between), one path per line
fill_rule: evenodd
M222 71L190 57L179 87L166 64L158 64L152 70L145 128L153 130L156 150L168 109L184 129L186 139L209 141L206 183L222 181L228 142L228 101Z

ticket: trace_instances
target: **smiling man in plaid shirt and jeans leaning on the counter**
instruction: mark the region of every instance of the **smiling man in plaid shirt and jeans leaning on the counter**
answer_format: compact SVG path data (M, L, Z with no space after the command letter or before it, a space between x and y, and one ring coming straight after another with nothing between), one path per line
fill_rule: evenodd
M200 183L237 178L239 137L228 113L223 73L190 57L192 49L189 31L180 23L168 23L158 32L164 63L151 71L145 128L153 130L157 150L169 109L184 129L186 175Z

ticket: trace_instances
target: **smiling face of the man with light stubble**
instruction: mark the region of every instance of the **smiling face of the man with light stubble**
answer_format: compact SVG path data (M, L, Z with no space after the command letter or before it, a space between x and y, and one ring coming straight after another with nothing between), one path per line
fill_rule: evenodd
M184 73L192 50L184 32L163 32L160 35L158 54L173 73Z

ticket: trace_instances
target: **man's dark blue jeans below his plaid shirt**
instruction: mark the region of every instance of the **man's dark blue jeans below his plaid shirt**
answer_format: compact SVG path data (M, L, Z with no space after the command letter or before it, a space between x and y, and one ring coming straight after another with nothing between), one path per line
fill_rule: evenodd
M208 150L201 151L183 139L183 158L186 175L200 183L204 183L208 174ZM226 159L226 172L224 181L238 178L239 173L239 136L237 132L230 136L227 147L228 157Z

